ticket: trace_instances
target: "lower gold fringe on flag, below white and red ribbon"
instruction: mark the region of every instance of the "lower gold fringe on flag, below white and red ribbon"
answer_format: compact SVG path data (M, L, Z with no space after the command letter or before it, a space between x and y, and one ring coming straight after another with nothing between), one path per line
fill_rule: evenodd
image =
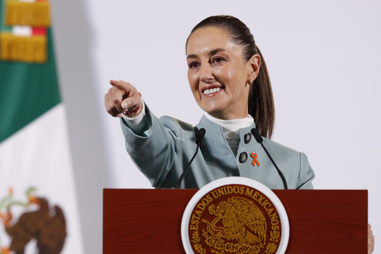
M32 37L0 33L0 60L27 63L45 63L47 60L46 35Z

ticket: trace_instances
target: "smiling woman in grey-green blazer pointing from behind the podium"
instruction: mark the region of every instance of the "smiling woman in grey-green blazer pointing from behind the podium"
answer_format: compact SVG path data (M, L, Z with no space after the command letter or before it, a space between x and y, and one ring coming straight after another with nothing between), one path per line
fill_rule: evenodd
M182 188L201 188L222 177L255 179L271 189L283 182L260 144L283 173L289 189L312 189L315 177L307 156L271 141L275 110L263 56L248 27L232 16L211 16L194 27L186 42L188 80L204 114L195 127L177 119L158 119L131 84L111 80L105 95L107 112L121 117L126 149L155 188L176 188L196 150L196 135L206 130L184 177ZM374 236L368 228L368 251Z

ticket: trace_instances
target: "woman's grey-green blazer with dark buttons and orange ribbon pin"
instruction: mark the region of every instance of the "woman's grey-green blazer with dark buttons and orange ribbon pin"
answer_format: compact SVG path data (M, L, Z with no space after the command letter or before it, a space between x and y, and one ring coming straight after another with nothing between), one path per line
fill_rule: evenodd
M213 180L241 176L254 179L271 189L283 189L283 182L262 146L254 137L245 143L245 134L255 128L255 123L241 128L237 156L234 156L221 126L202 116L193 127L169 116L159 119L146 106L148 122L142 135L136 135L121 118L126 149L134 164L155 188L176 188L177 181L196 151L195 127L205 128L205 138L181 188L201 188ZM247 141L247 140L246 140ZM280 171L286 178L288 189L312 189L315 177L307 156L287 146L263 138ZM247 160L240 160L242 153ZM251 156L252 153L253 156ZM242 155L241 158L244 156ZM256 161L255 159L256 158ZM254 162L254 165L253 165Z

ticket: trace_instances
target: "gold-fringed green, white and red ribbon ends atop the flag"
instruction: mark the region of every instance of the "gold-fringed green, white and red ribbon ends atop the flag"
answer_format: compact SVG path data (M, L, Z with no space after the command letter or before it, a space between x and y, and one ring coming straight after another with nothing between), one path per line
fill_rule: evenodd
M45 63L48 57L49 2L5 0L1 8L4 18L0 31L0 59Z

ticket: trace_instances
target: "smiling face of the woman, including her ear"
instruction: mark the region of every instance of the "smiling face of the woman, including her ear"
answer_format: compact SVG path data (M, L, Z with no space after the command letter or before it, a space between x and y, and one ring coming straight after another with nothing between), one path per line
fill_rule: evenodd
M248 117L249 80L258 74L260 58L248 63L241 48L224 30L206 27L189 37L186 54L188 80L200 108L220 119Z

